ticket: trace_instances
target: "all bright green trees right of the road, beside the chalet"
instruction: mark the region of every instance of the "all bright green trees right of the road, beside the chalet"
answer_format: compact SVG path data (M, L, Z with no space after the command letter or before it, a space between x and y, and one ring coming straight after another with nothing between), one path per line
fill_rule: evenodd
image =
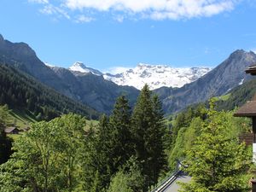
M251 119L216 110L214 99L207 106L189 107L172 120L169 166L173 170L183 162L183 171L192 177L182 184L183 192L246 192L249 178L254 177L252 148L238 138L251 131Z

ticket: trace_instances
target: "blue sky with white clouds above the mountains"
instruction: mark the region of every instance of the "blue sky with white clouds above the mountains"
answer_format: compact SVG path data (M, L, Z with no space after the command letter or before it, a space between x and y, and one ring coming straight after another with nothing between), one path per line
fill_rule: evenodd
M115 71L138 63L216 67L256 52L255 0L0 0L0 34L41 61Z

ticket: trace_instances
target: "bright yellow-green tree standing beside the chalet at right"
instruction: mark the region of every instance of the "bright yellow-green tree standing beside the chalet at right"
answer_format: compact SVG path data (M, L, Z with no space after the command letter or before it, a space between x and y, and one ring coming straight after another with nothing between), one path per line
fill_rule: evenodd
M215 111L210 102L201 134L185 152L185 171L192 176L192 182L183 183L183 191L247 191L247 181L242 178L250 156L245 144L238 143L239 131L232 120L230 113Z

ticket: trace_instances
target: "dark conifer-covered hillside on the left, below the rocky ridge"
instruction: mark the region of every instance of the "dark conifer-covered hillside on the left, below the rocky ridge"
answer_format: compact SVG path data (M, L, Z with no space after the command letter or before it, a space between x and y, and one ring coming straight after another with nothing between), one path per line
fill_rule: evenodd
M14 67L0 65L0 104L8 104L37 119L53 119L63 113L79 113L96 119L99 113L67 96L57 93Z

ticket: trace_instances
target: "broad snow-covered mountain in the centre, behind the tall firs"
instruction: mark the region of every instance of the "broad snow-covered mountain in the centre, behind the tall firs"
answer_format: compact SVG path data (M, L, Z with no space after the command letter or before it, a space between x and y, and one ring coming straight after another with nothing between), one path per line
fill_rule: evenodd
M174 68L166 65L140 63L137 67L126 70L124 73L114 75L106 73L103 77L115 84L134 86L138 90L141 90L144 84L148 84L150 89L154 90L163 86L182 87L184 84L201 78L210 70L210 67Z

